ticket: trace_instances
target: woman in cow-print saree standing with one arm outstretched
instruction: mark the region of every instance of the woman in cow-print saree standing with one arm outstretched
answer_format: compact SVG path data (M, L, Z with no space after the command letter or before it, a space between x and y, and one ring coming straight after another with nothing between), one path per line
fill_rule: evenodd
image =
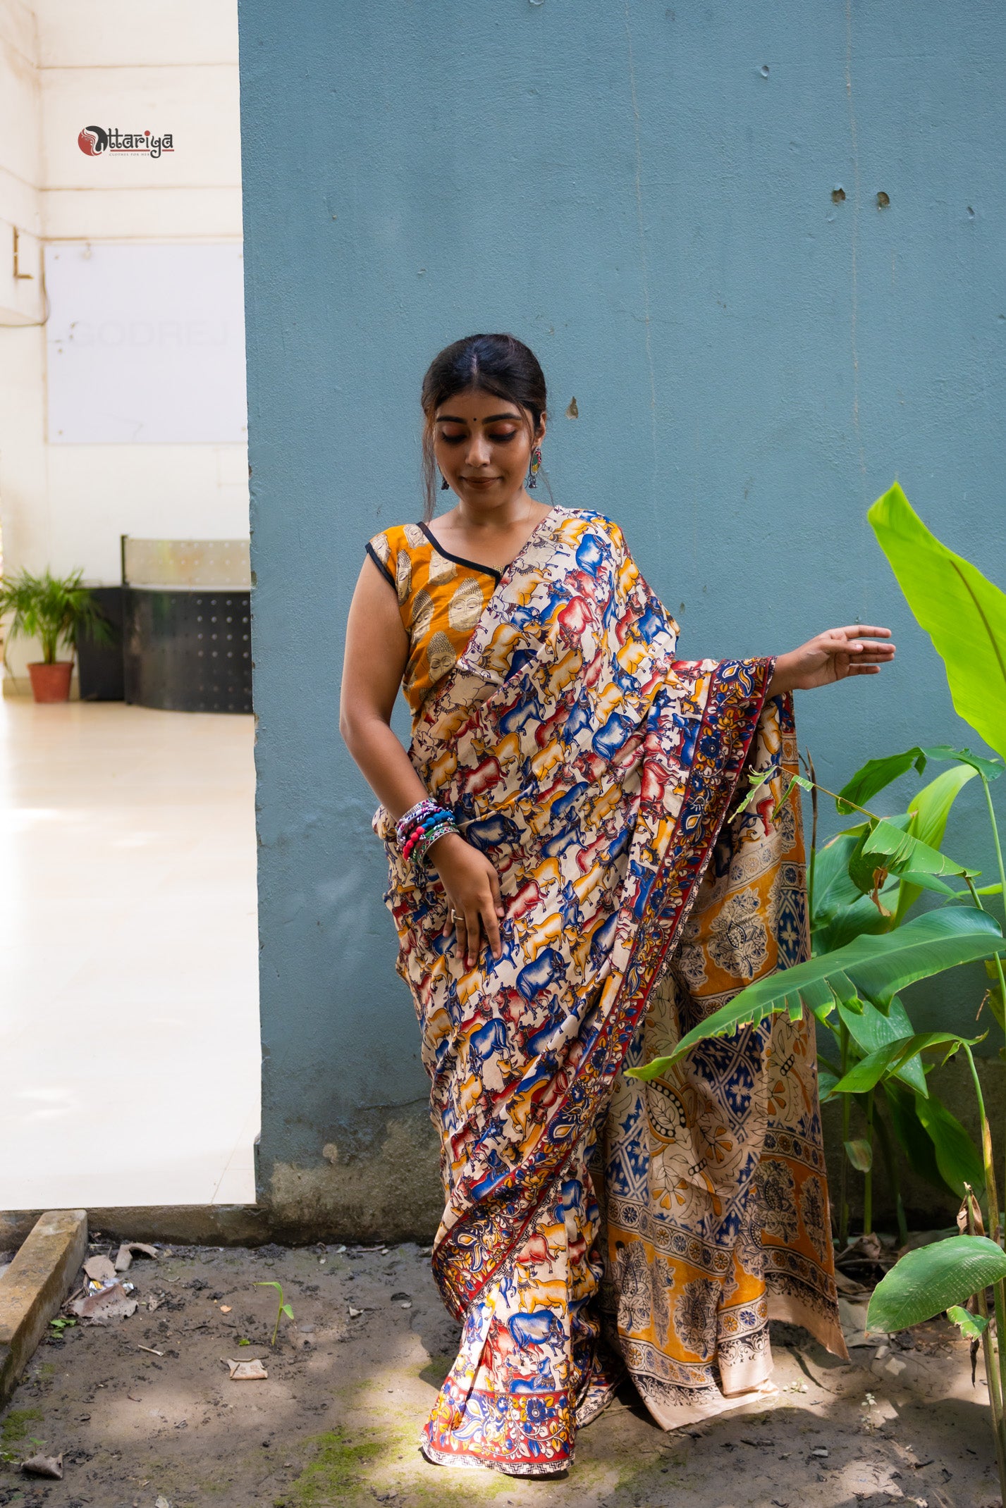
M546 388L526 345L448 345L422 409L427 522L367 546L341 713L382 802L442 1146L433 1268L463 1324L422 1452L547 1476L626 1369L670 1430L772 1390L769 1315L845 1354L807 1025L775 1016L649 1084L621 1069L805 956L796 798L775 811L790 692L894 648L843 627L677 659L618 525L528 490ZM431 525L436 466L457 504ZM751 768L765 799L731 814Z

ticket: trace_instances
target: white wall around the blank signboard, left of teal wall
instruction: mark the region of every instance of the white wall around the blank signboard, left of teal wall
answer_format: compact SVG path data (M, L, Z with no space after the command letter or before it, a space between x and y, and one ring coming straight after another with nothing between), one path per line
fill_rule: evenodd
M42 241L241 240L237 0L0 0L0 528L6 570L118 581L119 535L247 537L243 443L48 445ZM175 152L86 157L84 125ZM12 277L12 226L21 270ZM18 326L18 327L12 327ZM12 645L15 670L33 657Z

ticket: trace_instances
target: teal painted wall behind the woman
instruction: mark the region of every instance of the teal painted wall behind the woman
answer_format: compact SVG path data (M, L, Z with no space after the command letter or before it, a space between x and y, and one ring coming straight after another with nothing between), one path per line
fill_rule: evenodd
M363 541L419 514L430 357L532 345L555 501L623 523L683 654L891 624L894 671L798 698L825 783L967 740L864 513L897 475L1006 581L1006 12L241 0L240 30L259 1173L386 1229L436 1203L425 1077L336 706ZM988 860L974 787L955 831Z

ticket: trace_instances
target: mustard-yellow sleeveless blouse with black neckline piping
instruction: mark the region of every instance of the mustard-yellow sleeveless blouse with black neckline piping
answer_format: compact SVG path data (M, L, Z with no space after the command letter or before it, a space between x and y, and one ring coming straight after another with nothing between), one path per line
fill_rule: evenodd
M367 553L398 597L409 635L401 689L418 712L465 653L501 572L448 553L425 523L401 523L376 534Z

